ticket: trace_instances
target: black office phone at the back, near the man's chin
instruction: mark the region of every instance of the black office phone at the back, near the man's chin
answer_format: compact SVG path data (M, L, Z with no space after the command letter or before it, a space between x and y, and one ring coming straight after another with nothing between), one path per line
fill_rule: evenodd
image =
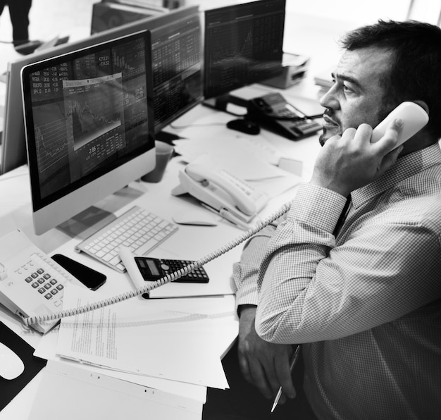
M320 123L297 112L278 92L250 99L247 104L247 118L290 140L314 135L322 129Z

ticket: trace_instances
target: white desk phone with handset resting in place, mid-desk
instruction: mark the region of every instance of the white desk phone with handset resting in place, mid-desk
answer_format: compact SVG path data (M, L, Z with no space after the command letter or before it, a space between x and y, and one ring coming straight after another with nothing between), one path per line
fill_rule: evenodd
M190 163L179 173L180 185L173 195L188 192L216 211L226 209L249 222L269 200L266 193L252 187L228 171L213 171L199 163Z

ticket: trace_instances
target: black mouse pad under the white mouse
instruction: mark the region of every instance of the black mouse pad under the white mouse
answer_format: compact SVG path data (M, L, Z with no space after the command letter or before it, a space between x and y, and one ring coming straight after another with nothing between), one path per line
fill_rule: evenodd
M2 410L46 366L47 360L35 357L34 347L27 344L2 322L0 322L0 341L17 353L25 365L23 373L11 381L0 376L0 410Z

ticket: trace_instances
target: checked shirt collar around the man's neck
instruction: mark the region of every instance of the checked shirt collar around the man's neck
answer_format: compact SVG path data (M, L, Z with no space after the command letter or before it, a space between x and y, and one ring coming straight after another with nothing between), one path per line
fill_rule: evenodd
M354 190L351 193L352 204L355 208L361 206L368 200L381 194L391 187L395 187L406 178L424 171L430 166L440 165L441 163L441 149L438 143L416 152L406 154L399 158L397 162L386 171L378 180Z

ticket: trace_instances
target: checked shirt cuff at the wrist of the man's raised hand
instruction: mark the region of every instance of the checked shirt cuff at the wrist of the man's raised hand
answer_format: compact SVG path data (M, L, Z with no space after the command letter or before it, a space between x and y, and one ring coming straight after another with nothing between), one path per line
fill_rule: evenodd
M287 220L302 221L333 232L346 201L347 198L338 192L302 183L292 201Z

